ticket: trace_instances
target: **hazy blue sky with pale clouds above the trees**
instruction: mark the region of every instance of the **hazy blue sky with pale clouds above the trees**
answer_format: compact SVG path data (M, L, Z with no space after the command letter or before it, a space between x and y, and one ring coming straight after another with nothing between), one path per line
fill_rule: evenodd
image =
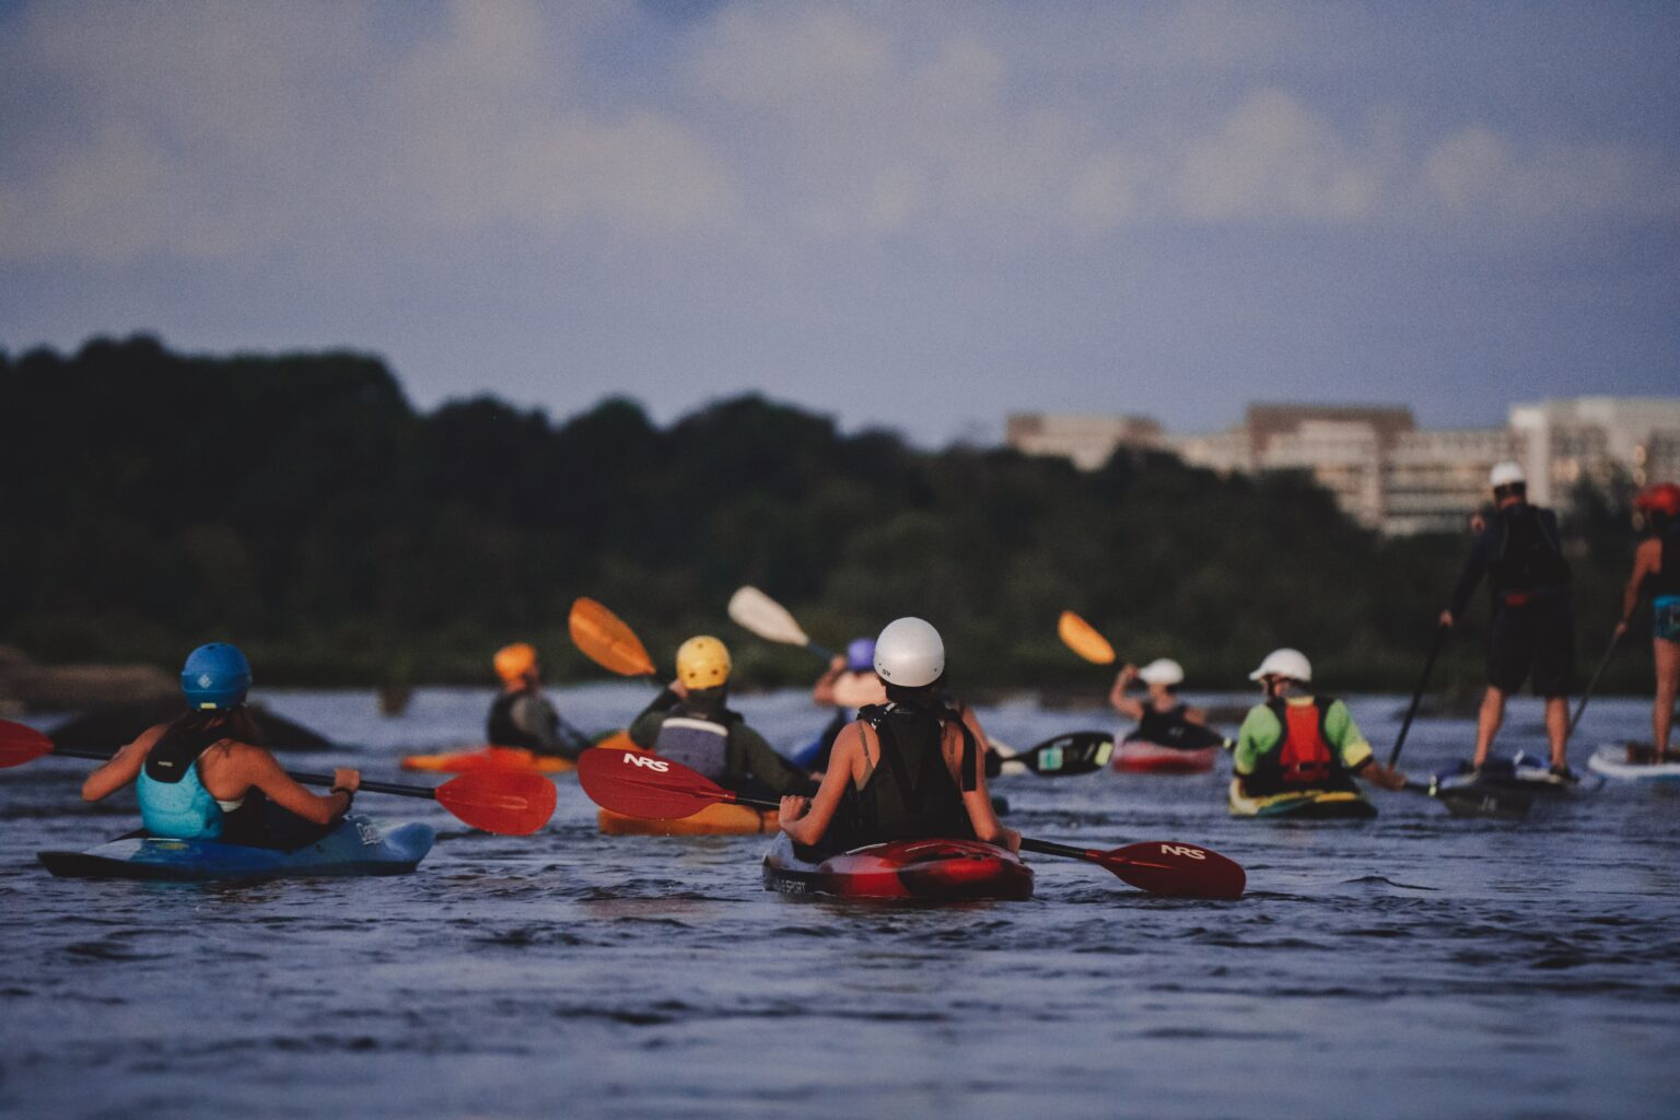
M422 408L1680 395L1680 5L0 0L0 349Z

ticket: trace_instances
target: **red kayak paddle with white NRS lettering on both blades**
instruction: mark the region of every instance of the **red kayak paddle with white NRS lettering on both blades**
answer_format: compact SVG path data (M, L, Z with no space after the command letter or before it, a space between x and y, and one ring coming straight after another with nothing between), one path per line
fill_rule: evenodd
M585 751L578 759L578 781L595 804L623 816L680 819L709 804L756 809L781 804L768 798L743 798L680 762L637 751ZM1021 848L1102 865L1132 887L1156 895L1240 898L1247 882L1242 866L1200 845L1154 841L1094 851L1021 838Z

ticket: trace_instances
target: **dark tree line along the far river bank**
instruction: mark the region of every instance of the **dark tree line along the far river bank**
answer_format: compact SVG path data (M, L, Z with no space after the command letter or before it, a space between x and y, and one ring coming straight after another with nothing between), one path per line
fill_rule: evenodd
M1384 539L1292 474L927 452L758 395L665 428L625 398L559 421L491 396L422 413L373 356L148 336L0 353L0 643L173 665L225 638L264 683L482 682L521 638L549 677L598 677L566 636L578 594L667 668L712 631L744 680L808 680L806 655L726 620L753 583L830 646L921 615L969 687L1099 693L1105 673L1055 636L1075 610L1191 687L1242 687L1295 645L1332 688L1410 688L1468 549ZM1567 526L1583 675L1631 563L1628 500L1583 494ZM1478 678L1482 626L1485 606L1441 683ZM1609 683L1641 688L1641 658Z

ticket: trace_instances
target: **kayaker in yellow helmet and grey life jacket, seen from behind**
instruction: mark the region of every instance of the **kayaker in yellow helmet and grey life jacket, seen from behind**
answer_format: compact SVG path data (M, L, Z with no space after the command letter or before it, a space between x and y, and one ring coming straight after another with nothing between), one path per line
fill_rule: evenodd
M729 709L729 648L711 635L677 648L677 678L630 724L643 749L753 796L808 793L811 779Z

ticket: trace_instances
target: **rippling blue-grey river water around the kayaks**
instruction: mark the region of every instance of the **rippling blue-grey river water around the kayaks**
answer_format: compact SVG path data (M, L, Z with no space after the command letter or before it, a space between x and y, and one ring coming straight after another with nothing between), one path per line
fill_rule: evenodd
M556 692L585 727L647 693ZM371 777L470 742L489 695L265 693ZM1233 697L1243 700L1245 697ZM1352 700L1373 742L1403 699ZM743 697L771 742L823 722ZM1594 700L1583 744L1648 737ZM1095 709L981 709L1018 747ZM1502 737L1542 751L1539 705ZM42 720L50 725L50 720ZM1404 762L1468 754L1420 720ZM1572 751L1584 769L1589 746ZM301 769L334 759L296 756ZM534 838L363 796L442 840L413 875L265 885L50 878L42 848L134 826L89 764L0 774L0 1113L18 1117L1673 1117L1680 789L1609 784L1524 823L1378 794L1369 823L1226 816L1198 777L995 782L1032 836L1208 845L1248 895L1154 898L1035 858L1025 903L892 908L761 890L759 838L603 838L561 777Z

